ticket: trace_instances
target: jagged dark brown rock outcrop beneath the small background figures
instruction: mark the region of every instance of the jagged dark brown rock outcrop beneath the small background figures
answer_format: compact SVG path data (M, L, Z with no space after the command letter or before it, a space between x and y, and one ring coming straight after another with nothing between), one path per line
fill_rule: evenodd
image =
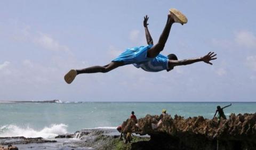
M150 135L149 141L132 144L132 149L256 149L256 113L231 114L229 119L204 119L203 116L185 119L166 115L156 129L157 115L146 115L135 121L127 119L122 132Z

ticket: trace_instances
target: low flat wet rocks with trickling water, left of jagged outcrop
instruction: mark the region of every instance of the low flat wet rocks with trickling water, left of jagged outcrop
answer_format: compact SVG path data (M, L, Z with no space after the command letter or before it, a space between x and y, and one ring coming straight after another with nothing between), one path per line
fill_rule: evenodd
M76 131L74 134L65 134L55 139L25 138L25 137L2 137L0 145L15 145L19 149L43 150L85 150L85 149L113 149L113 139L119 138L116 129L86 129ZM1 147L2 148L2 147ZM2 149L0 149L2 150Z

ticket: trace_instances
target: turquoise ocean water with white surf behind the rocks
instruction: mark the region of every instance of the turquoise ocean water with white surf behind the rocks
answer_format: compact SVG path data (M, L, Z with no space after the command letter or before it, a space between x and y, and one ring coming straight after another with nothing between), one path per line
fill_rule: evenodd
M202 115L212 119L217 105L230 103L177 102L84 102L84 103L0 103L0 137L25 136L53 138L81 129L115 129L129 118L161 114L162 109L174 116L188 118ZM256 103L232 103L230 113L255 113Z

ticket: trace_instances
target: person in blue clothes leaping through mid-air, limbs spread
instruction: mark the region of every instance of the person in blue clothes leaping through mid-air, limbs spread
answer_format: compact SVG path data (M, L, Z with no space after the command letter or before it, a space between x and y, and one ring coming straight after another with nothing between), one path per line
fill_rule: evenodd
M177 56L174 54L169 54L168 56L161 55L160 52L163 51L167 38L169 36L171 26L173 23L187 23L187 18L181 12L176 9L170 9L170 13L167 16L167 22L164 27L164 30L158 40L157 44L153 44L153 39L151 38L148 31L148 16L144 17L143 25L146 31L146 39L148 46L132 47L127 48L125 52L116 57L109 64L104 66L91 66L89 68L70 70L64 77L65 81L70 84L77 74L81 73L97 73L102 72L106 73L113 69L118 68L122 65L133 64L137 68L141 68L148 72L158 72L162 70L170 71L177 65L187 65L195 62L205 62L208 64L212 63L211 60L217 59L217 54L214 52L209 52L203 57L198 57L196 59L186 59L178 60Z

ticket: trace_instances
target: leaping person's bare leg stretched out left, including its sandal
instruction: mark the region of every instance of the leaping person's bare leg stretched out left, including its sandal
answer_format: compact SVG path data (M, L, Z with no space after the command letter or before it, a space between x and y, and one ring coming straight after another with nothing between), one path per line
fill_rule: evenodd
M123 62L111 62L104 66L96 65L96 66L91 66L89 68L84 68L84 69L78 69L78 70L72 69L65 75L64 79L68 84L71 84L71 82L75 79L77 74L97 73L97 72L106 73L122 65L124 65Z

